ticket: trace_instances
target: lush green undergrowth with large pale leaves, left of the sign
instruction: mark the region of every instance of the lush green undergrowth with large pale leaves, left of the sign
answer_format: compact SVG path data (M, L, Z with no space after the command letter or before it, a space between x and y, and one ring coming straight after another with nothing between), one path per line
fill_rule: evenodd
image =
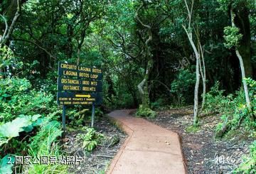
M32 89L26 79L0 80L0 174L14 168L18 173L67 173L67 165L33 163L41 156L62 155L61 111L54 102L52 94ZM15 156L31 156L31 163L14 164ZM10 157L12 164L7 164Z

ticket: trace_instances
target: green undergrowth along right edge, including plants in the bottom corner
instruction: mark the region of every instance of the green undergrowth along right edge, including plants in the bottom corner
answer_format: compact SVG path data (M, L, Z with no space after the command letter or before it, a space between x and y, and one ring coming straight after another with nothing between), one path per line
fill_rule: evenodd
M237 132L233 136L243 134L244 136L247 135L247 138L256 137L256 81L250 78L245 79L245 81L249 87L251 108L246 106L245 94L242 89L235 94L225 96L224 91L219 89L219 83L217 82L206 94L205 112L219 112L221 114L221 122L215 127L217 137L223 137L233 131ZM239 133L238 129L242 129L242 131ZM245 134L245 131L247 134ZM244 157L243 163L234 173L255 173L255 161L256 141L250 146L250 156Z

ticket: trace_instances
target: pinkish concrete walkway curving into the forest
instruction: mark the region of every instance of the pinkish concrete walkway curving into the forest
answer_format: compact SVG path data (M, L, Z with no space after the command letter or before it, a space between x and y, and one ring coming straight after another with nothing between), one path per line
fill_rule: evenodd
M178 134L129 115L133 110L117 110L109 115L128 134L107 173L183 174L181 142Z

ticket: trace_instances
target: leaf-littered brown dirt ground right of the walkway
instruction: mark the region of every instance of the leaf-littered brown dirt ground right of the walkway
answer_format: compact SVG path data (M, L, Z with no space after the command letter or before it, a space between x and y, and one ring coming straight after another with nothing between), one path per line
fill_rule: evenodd
M242 157L249 154L248 147L253 141L245 138L242 129L237 130L240 134L235 136L215 139L215 125L220 121L220 115L216 114L202 118L203 126L196 133L186 131L193 123L191 107L160 111L155 119L148 120L181 136L188 173L232 173Z

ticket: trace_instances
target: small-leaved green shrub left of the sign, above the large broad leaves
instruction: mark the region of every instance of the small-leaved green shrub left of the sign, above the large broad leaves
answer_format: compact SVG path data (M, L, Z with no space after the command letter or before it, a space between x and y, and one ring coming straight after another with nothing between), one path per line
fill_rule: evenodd
M31 83L26 79L0 80L0 123L11 121L20 114L53 112L52 102L53 95L31 89Z

